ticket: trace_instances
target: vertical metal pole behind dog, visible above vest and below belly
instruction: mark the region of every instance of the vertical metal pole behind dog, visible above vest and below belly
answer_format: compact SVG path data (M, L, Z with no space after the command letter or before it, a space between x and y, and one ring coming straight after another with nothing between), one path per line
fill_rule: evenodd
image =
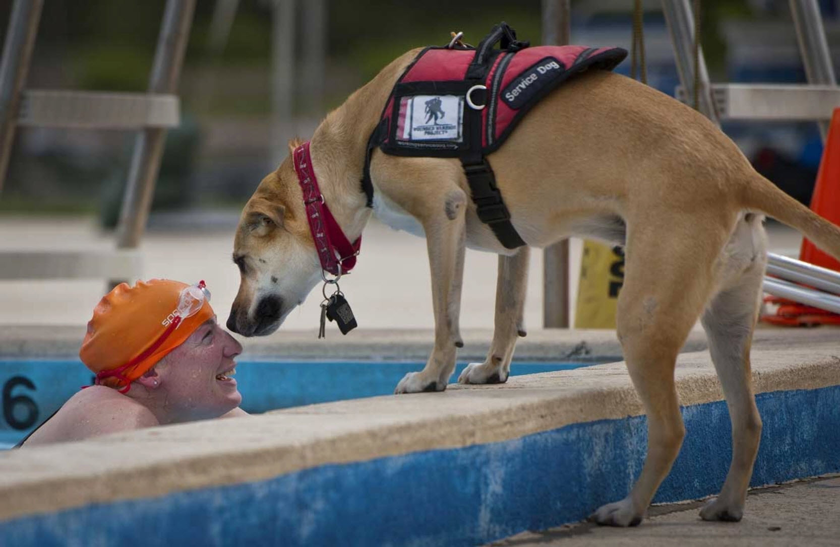
M543 44L570 42L570 0L543 0ZM543 250L543 327L569 328L569 240Z

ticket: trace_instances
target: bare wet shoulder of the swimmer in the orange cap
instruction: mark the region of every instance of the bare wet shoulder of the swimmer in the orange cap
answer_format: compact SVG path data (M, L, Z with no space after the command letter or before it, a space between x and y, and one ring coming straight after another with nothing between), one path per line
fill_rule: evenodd
M82 440L160 425L155 414L116 389L91 386L73 395L24 446Z

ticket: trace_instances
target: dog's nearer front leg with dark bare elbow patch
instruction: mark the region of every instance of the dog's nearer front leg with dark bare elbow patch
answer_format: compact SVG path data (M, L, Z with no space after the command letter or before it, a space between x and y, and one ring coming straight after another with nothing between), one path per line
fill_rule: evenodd
M439 199L438 199L439 198ZM409 372L394 393L444 391L455 369L461 285L464 280L466 194L453 187L428 195L422 211L412 211L423 223L432 274L434 349L420 372Z

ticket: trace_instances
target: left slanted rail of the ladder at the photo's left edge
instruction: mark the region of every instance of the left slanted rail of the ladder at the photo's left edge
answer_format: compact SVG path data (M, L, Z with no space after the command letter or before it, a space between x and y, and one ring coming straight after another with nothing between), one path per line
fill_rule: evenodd
M0 64L0 190L3 190L8 159L12 155L20 94L26 85L43 6L44 0L15 0L8 18Z

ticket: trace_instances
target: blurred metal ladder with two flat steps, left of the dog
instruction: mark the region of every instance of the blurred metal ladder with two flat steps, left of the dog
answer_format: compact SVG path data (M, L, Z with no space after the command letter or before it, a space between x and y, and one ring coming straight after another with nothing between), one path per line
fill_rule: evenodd
M0 190L15 129L136 130L129 180L112 251L0 251L2 279L132 279L149 216L166 129L180 123L176 95L195 0L167 0L146 93L24 90L44 0L15 0L0 64Z

